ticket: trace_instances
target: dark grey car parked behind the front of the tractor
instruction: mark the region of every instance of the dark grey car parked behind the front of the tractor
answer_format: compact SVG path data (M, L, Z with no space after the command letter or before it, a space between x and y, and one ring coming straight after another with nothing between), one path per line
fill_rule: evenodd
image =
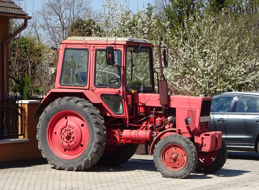
M209 131L222 131L228 150L258 152L259 92L213 96Z

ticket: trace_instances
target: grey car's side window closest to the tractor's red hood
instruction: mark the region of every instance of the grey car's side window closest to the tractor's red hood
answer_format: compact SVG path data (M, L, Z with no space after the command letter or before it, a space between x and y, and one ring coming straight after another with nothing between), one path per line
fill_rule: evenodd
M211 113L227 113L234 96L224 96L212 99Z

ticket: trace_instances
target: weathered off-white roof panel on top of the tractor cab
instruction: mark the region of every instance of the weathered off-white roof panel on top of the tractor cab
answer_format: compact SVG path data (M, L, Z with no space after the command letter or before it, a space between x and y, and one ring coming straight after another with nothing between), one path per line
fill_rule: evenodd
M114 37L85 37L85 36L71 36L67 40L84 40L84 41L127 41L127 42L139 42L139 43L150 43L146 39L138 38L114 38Z

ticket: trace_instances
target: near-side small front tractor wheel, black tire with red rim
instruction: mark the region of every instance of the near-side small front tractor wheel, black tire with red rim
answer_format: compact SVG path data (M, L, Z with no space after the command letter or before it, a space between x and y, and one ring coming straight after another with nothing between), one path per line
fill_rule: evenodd
M197 164L197 151L193 143L182 135L168 135L155 146L154 163L167 178L185 178Z

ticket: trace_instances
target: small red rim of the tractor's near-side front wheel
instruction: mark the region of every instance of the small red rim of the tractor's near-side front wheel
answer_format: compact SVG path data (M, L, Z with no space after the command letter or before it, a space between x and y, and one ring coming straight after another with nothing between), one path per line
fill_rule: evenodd
M161 152L163 165L170 171L183 169L187 162L187 154L184 148L178 144L168 144Z

